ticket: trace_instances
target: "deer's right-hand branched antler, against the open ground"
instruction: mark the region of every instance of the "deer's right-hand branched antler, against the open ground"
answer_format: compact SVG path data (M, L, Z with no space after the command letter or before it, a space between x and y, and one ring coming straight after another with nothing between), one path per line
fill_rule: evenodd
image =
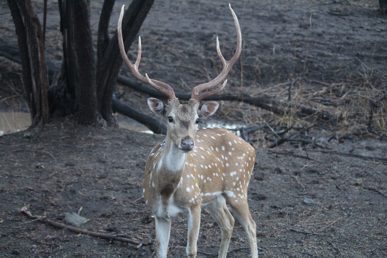
M203 83L203 84L200 84L200 85L196 86L192 90L192 93L191 93L191 99L192 100L196 100L196 101L200 102L200 100L202 100L204 98L208 98L210 96L213 96L213 95L216 95L217 93L219 93L224 88L224 86L226 86L227 80L224 81L223 85L218 87L217 89L214 89L212 91L207 91L207 92L204 92L204 93L200 93L200 91L212 88L212 87L216 86L217 84L221 83L226 78L227 74L231 70L231 67L233 67L233 65L235 64L236 60L238 60L238 58L240 56L240 53L241 53L241 50L242 50L242 34L241 34L241 29L240 29L240 26L239 26L238 18L236 17L236 14L235 14L234 10L231 8L231 4L229 4L228 7L231 10L231 13L233 15L234 22L235 22L235 28L236 28L236 51L235 51L235 54L234 54L234 56L229 61L226 61L226 59L224 59L224 57L223 57L223 55L222 55L222 53L220 51L219 40L216 37L216 52L217 52L217 54L218 54L218 56L219 56L219 58L220 58L220 60L221 60L221 62L223 64L223 69L220 72L220 74L218 76L216 76L216 78L213 79L212 81L209 81L208 83Z

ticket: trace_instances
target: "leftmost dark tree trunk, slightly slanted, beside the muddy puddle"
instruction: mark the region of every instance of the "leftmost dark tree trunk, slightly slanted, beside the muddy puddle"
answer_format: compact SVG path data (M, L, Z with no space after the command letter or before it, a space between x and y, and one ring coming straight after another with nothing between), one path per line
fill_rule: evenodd
M31 110L32 126L49 122L47 73L41 24L31 0L8 0L22 62L22 80Z

